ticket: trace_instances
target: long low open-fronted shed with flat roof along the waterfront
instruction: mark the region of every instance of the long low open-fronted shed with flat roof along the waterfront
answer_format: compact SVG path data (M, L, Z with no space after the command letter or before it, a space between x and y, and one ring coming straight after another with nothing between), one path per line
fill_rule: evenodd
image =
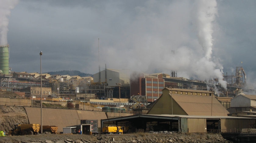
M125 132L175 131L178 133L234 132L252 128L256 119L231 116L132 115L102 119L101 128L109 125L125 127Z

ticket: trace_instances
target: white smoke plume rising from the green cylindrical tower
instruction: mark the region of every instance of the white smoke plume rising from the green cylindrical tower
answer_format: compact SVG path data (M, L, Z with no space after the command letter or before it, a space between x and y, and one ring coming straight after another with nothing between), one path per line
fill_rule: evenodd
M18 4L18 0L0 0L0 45L7 44L7 32L11 9Z

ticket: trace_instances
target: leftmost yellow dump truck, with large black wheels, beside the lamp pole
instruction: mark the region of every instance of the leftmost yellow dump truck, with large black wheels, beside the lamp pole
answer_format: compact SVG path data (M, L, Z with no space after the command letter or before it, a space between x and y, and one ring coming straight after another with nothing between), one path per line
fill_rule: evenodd
M39 124L18 124L9 131L9 135L37 135L40 129Z

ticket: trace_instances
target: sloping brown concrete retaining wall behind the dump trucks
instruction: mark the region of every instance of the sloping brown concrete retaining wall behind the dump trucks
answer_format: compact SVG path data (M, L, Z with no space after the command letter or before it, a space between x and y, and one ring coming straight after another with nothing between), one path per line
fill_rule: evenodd
M41 124L41 108L25 107L25 109L30 124ZM116 118L120 113L107 112L107 114L109 118ZM79 125L80 120L98 120L98 128L100 128L101 119L107 119L105 112L72 109L42 108L42 115L43 125L57 126L58 132L62 132L63 127ZM130 115L132 114L121 113L121 116Z

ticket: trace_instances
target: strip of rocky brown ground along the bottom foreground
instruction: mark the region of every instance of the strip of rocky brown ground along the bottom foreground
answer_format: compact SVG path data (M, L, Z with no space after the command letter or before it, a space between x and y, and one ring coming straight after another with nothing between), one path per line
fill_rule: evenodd
M39 134L4 136L0 143L231 143L220 134L123 134L123 135L72 135Z

